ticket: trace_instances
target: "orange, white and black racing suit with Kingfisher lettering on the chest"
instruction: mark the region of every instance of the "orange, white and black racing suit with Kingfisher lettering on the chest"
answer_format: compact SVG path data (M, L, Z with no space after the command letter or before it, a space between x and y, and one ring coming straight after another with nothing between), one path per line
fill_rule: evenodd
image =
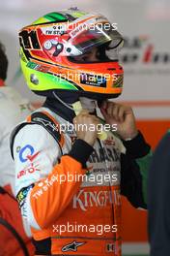
M14 131L15 195L36 254L121 256L121 193L146 208L150 146L140 132L124 143L109 132L92 147L69 125L42 108Z

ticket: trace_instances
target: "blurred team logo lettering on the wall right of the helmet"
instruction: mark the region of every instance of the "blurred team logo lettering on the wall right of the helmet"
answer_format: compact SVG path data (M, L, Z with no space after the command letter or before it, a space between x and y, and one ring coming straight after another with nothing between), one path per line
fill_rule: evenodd
M125 38L125 45L120 53L124 64L170 64L170 52L157 50L154 42L147 35Z

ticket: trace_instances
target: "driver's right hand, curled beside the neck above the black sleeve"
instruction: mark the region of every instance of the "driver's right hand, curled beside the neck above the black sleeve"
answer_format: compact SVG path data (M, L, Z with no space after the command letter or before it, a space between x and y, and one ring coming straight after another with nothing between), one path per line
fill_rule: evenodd
M104 101L100 107L105 122L117 124L117 133L123 140L133 139L138 131L132 109L118 103Z

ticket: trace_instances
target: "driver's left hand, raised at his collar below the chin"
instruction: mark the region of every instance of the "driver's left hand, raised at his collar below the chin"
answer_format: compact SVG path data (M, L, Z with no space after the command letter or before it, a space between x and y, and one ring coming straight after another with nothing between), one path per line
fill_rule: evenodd
M83 110L73 118L73 124L77 138L93 146L98 137L98 117Z

